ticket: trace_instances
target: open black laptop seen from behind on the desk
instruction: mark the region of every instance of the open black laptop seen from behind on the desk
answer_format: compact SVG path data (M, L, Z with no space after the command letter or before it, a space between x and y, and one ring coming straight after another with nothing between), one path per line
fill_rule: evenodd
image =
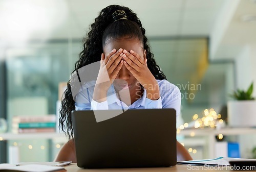
M97 122L72 111L77 165L81 168L166 167L177 163L175 109L133 109Z

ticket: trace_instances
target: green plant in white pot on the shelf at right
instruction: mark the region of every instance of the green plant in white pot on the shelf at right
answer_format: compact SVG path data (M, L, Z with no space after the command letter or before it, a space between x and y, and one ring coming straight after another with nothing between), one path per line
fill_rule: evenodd
M228 125L230 127L256 126L256 101L252 97L253 82L247 91L238 89L231 96L234 101L227 104Z

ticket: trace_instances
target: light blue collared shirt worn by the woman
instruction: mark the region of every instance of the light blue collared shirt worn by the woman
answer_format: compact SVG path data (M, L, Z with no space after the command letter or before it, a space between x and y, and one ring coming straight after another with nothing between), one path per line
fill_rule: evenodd
M76 110L108 110L108 109L161 109L174 108L176 116L180 114L181 93L177 86L166 80L157 80L160 89L160 99L150 100L146 97L144 89L143 96L130 106L120 101L116 95L113 84L107 92L107 99L98 103L92 99L96 81L83 85L75 96Z

